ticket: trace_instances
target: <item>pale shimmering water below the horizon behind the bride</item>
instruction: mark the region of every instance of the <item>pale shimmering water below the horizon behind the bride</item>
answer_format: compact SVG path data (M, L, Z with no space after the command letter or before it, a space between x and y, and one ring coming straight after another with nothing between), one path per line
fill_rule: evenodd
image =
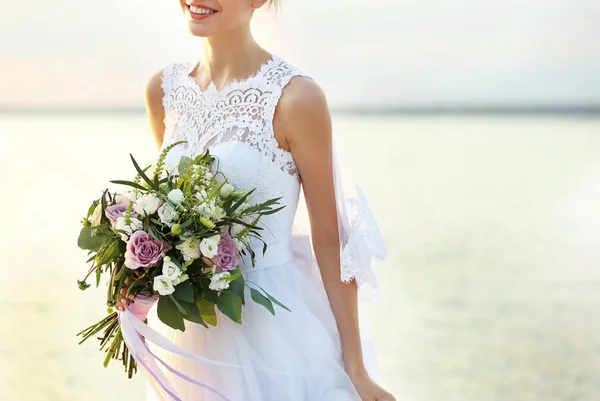
M335 116L389 245L381 383L407 401L596 401L600 119ZM0 399L141 399L75 333L89 200L150 157L142 115L0 116ZM128 172L123 174L123 171Z

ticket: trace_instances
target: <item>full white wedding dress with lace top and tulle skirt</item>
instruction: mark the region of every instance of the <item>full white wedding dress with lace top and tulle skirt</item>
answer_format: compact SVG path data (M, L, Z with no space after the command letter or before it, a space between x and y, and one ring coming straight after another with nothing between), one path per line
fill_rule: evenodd
M217 311L218 325L206 329L186 321L174 331L150 312L149 325L179 347L213 360L245 368L192 361L154 350L183 374L207 384L232 401L360 401L344 371L340 337L307 236L293 235L301 179L291 153L278 146L273 114L283 88L295 76L307 76L274 55L253 76L218 91L202 90L190 76L196 63L169 65L162 87L166 132L163 148L180 140L169 154L171 165L182 155L206 149L218 158L218 169L236 188L256 188L253 202L281 198L286 207L262 220L269 244L256 267L244 267L246 280L256 283L286 305L271 315L249 294L243 324ZM357 267L342 254L342 279L363 286L374 283L369 266ZM370 347L365 345L365 352ZM369 361L369 355L366 355ZM265 370L267 369L267 370ZM275 372L273 372L275 371ZM222 400L165 371L183 401ZM149 386L150 387L150 386ZM158 396L149 391L149 400ZM168 398L164 398L168 399Z

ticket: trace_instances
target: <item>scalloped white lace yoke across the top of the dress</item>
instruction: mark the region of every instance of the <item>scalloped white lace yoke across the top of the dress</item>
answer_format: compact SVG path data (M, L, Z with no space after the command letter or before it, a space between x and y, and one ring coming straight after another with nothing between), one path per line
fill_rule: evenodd
M175 64L164 70L165 145L185 139L185 153L192 156L225 142L242 142L258 150L265 164L298 178L291 153L275 139L273 116L283 87L294 76L308 75L274 55L253 76L233 81L222 91L213 83L203 91L190 76L196 65Z

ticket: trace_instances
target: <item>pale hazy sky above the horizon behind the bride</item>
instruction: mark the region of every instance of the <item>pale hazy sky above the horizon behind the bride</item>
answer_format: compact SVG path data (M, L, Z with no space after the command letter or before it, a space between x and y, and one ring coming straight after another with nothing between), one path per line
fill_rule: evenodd
M0 108L142 107L148 76L202 54L176 0L0 9ZM598 21L597 0L283 0L253 30L333 107L552 106L600 104Z

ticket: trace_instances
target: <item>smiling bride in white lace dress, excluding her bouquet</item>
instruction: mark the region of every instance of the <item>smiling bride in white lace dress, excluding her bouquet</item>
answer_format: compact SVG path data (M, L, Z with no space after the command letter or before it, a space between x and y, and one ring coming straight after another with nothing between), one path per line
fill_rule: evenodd
M149 322L186 351L243 367L163 355L215 389L165 372L183 401L395 401L369 377L363 358L358 288L374 277L370 258L354 252L366 244L353 242L341 210L325 95L250 32L254 11L274 1L179 0L189 31L202 38L203 56L152 76L146 108L160 149L187 141L170 152L171 165L208 149L234 186L257 188L253 202L280 197L286 205L264 219L268 250L243 270L291 312L280 308L272 316L247 302L241 325L220 312L210 329L187 322L185 332L175 332L152 313ZM301 188L317 269L308 237L292 235ZM155 390L151 397L172 399Z

